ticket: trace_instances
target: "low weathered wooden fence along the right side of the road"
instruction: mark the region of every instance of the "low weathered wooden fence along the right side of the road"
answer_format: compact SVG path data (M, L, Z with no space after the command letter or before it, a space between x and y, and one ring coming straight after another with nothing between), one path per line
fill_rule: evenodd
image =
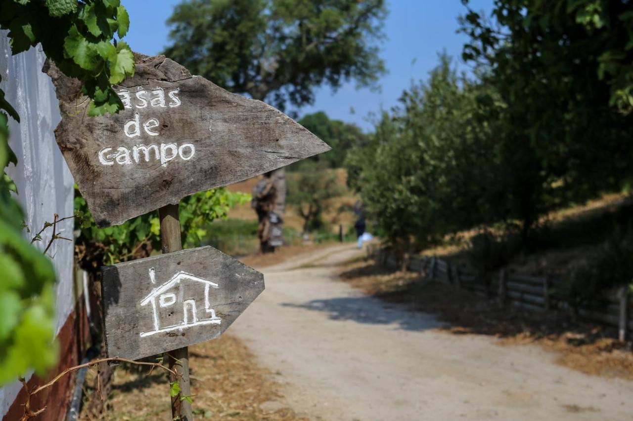
M370 250L372 257L388 267L400 267L397 260L382 250ZM529 276L499 270L492 276L479 276L437 257L414 257L408 260L409 271L420 272L431 281L450 284L499 303L508 303L537 312L563 310L575 312L584 319L618 328L618 338L624 341L633 330L633 300L626 286L596 297L592 307L573 307L561 292L563 281L548 276Z

